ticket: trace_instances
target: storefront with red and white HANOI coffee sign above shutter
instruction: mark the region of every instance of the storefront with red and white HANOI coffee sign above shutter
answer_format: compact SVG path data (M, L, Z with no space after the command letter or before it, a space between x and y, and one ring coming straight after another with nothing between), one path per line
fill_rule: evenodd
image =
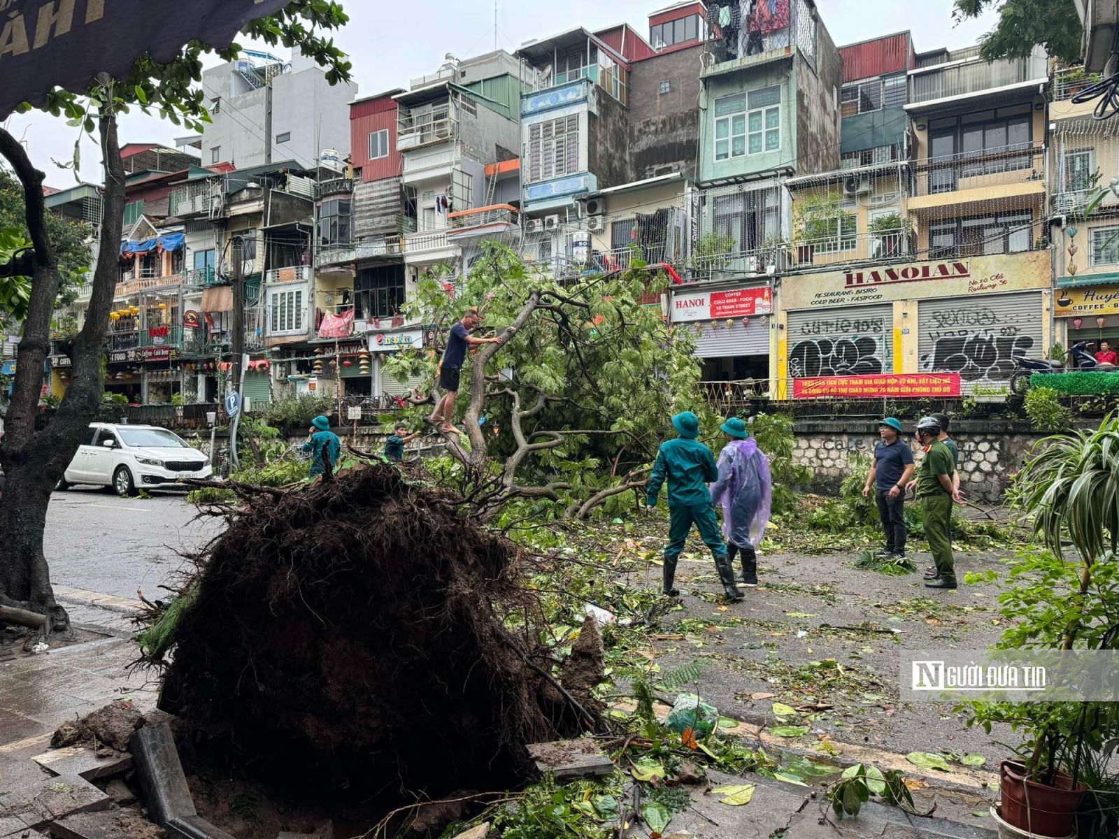
M769 376L773 290L754 285L726 291L680 291L669 302L674 327L696 330L695 355L705 381Z

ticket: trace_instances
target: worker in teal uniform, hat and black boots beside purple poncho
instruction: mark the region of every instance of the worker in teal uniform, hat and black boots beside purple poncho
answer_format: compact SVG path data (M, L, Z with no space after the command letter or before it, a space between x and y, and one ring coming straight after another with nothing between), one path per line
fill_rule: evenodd
M700 443L699 417L690 411L673 417L673 425L679 433L657 452L657 462L646 490L646 503L657 506L660 487L668 481L669 531L668 547L665 548L664 593L675 597L679 591L673 587L676 578L676 563L684 550L688 531L695 525L699 536L715 557L715 567L723 583L723 592L728 601L742 600L734 584L734 572L726 555L726 545L718 529L718 519L711 500L707 484L718 479L718 468L711 449Z

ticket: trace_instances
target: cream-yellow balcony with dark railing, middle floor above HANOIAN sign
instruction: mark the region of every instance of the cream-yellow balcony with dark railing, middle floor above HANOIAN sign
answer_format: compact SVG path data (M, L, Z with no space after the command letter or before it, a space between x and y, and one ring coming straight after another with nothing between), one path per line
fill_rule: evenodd
M909 207L918 210L1044 192L1045 147L1019 143L919 161L913 166Z

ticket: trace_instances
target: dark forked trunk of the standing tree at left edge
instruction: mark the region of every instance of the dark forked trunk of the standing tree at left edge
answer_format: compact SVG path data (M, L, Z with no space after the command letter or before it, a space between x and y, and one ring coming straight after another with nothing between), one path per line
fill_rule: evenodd
M68 618L55 602L43 554L47 506L94 420L104 392L104 345L109 312L116 289L121 227L124 219L124 167L111 112L101 119L105 164L104 220L97 270L85 326L74 341L70 387L46 427L36 431L44 364L50 351L50 318L58 295L58 265L47 241L43 172L22 147L0 130L0 153L12 164L25 189L27 226L35 244L35 276L23 337L19 345L16 385L0 465L8 479L0 505L0 603L47 614L55 629Z

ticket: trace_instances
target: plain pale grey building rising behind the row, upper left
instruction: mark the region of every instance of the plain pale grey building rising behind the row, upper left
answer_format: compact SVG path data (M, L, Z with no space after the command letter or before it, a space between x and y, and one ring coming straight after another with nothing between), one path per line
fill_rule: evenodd
M203 73L211 123L201 138L206 166L238 169L292 160L314 169L322 157L349 153L349 106L357 85L331 85L313 58L298 49L285 62L243 50L241 59Z

